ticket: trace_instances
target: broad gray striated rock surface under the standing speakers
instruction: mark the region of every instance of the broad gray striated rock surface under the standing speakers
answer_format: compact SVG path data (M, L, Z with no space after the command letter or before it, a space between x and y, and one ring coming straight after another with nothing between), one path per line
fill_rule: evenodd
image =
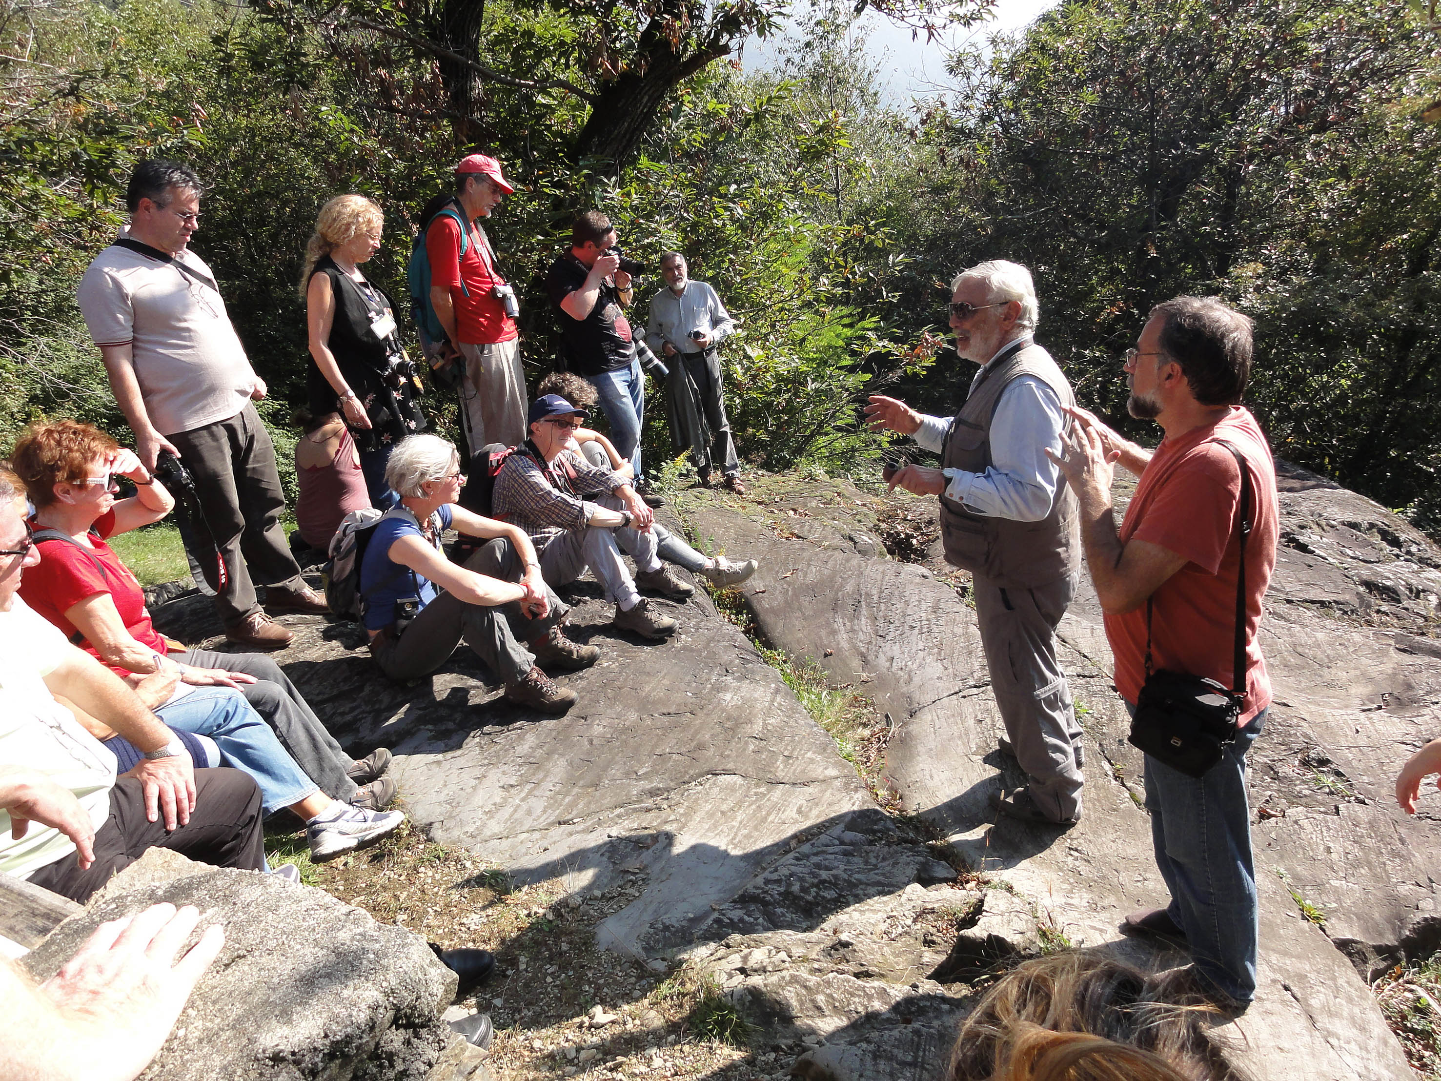
M1265 624L1278 702L1251 755L1262 989L1216 1039L1258 1078L1406 1078L1362 974L1435 938L1437 823L1405 820L1389 786L1441 728L1441 559L1368 500L1298 473L1285 484ZM886 780L974 873L957 879L875 809L700 592L660 601L682 631L644 644L608 628L597 585L572 587L569 633L602 660L562 677L581 700L558 719L504 703L464 649L392 685L353 624L285 617L297 644L277 659L347 749L395 749L406 810L435 840L523 882L559 879L576 901L624 891L633 901L597 925L599 941L653 971L703 966L761 1038L806 1048L798 1077L934 1078L973 1003L967 982L1046 950L1185 963L1117 933L1164 891L1088 588L1062 624L1087 728L1085 817L1065 835L996 826L986 796L1020 775L996 748L965 577L940 561L934 504L778 479L752 500L687 493L683 510L697 546L762 561L741 598L769 644L875 700ZM219 630L199 595L156 614L190 641Z

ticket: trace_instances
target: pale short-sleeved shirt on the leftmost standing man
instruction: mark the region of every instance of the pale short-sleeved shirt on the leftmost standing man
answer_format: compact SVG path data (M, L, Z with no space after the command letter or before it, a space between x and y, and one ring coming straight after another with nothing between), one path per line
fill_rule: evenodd
M95 344L131 346L146 412L161 435L229 419L255 389L210 268L189 251L179 258L205 280L130 248L105 248L76 295Z

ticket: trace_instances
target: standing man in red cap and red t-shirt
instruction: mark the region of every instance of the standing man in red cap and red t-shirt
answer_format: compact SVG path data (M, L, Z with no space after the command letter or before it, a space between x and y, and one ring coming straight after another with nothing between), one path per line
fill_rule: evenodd
M455 202L468 239L461 255L461 223L438 213L425 229L431 264L431 307L465 360L460 385L461 427L471 453L487 442L514 447L526 438L526 378L520 370L520 332L507 313L519 311L514 290L496 268L496 249L480 228L514 192L500 163L471 154L455 166Z

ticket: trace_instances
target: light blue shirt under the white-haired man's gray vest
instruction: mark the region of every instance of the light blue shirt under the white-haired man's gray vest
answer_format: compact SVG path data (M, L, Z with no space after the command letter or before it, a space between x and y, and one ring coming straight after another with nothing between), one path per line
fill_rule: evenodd
M993 363L994 357L976 373L973 388ZM1046 447L1061 453L1065 421L1061 399L1049 385L1029 375L1013 379L1001 392L991 419L993 464L984 473L942 470L950 480L945 494L974 515L1040 522L1050 513L1056 489L1063 483L1059 467L1046 457ZM950 417L922 414L912 438L940 454L951 422Z

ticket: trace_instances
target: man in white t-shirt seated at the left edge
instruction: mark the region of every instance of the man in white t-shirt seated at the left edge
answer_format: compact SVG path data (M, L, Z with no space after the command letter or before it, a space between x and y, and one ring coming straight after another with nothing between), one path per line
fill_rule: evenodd
M16 491L0 479L0 873L85 901L148 848L264 869L255 781L193 770L120 676L30 611L17 591L39 561ZM146 755L140 765L117 778L115 755L56 695L130 739ZM16 807L24 814L12 817Z

